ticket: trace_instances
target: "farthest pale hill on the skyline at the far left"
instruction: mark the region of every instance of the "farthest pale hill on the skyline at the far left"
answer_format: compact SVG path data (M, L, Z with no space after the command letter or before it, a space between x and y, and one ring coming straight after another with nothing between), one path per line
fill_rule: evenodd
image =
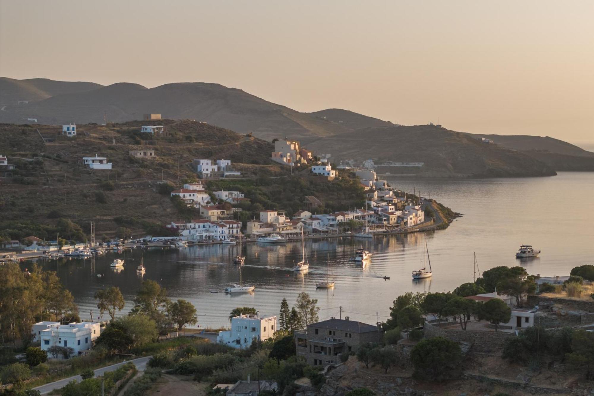
M55 95L86 92L100 87L102 87L100 84L83 81L54 81L48 78L15 80L14 78L0 77L0 106L14 106L20 100L37 102Z

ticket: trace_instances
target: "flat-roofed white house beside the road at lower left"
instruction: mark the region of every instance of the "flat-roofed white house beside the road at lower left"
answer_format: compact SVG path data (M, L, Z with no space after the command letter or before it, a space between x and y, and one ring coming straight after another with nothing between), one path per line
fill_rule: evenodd
M42 323L42 322L40 322ZM39 324L39 323L37 323ZM47 351L51 347L72 348L74 356L80 351L89 350L92 341L99 337L99 322L70 323L69 325L49 326L38 335L41 348Z

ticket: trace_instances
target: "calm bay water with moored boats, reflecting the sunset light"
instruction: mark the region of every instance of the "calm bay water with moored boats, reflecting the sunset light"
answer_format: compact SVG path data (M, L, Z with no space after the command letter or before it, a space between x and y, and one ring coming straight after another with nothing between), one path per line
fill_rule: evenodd
M522 265L529 274L567 275L573 266L593 263L594 172L563 172L556 177L500 178L488 180L389 180L393 187L421 191L463 213L447 230L425 234L307 241L310 269L295 274L293 261L301 259L301 244L286 246L247 244L246 265L239 272L232 257L238 246L216 245L187 249L132 250L91 260L59 260L44 264L57 269L74 294L81 316L97 308L93 294L115 285L127 300L125 310L140 286L135 268L144 256L145 279L167 288L168 295L191 301L198 309L199 324L228 325L228 313L238 306L256 307L263 315L277 314L286 297L294 303L301 291L318 299L320 319L339 316L368 323L385 320L391 301L406 291L448 291L473 279L473 252L481 271L498 265ZM426 238L433 277L413 281L410 272L422 267ZM525 261L514 256L520 244L542 249L541 257ZM373 253L362 267L349 259L363 245ZM124 271L115 274L109 263L124 258ZM326 278L327 258L331 290L316 290ZM102 274L97 278L97 274ZM390 276L384 281L382 276ZM254 285L253 294L225 295L229 282ZM218 290L219 293L210 293Z

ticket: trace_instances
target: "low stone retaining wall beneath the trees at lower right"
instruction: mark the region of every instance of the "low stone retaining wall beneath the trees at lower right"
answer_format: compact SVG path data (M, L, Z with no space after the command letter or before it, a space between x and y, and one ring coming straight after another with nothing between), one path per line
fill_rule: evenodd
M441 325L451 325L451 322L441 323ZM424 332L426 338L444 337L456 342L469 342L472 344L473 351L485 353L501 350L507 338L515 337L513 333L444 329L443 326L437 323L431 324L429 322L425 322Z

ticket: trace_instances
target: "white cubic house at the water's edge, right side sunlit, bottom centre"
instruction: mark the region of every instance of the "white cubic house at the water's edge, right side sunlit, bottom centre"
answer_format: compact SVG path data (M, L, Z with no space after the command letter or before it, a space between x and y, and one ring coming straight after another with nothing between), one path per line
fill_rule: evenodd
M248 348L252 341L264 341L276 331L276 316L260 318L256 315L239 315L231 319L231 330L219 332L217 342L233 348Z

